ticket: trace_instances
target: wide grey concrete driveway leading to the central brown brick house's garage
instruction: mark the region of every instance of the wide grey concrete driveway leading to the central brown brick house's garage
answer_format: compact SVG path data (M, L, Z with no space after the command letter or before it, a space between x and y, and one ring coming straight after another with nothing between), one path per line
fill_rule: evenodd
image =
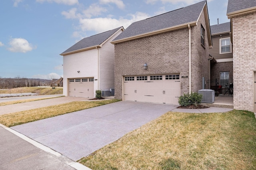
M121 101L12 129L76 161L176 107Z

